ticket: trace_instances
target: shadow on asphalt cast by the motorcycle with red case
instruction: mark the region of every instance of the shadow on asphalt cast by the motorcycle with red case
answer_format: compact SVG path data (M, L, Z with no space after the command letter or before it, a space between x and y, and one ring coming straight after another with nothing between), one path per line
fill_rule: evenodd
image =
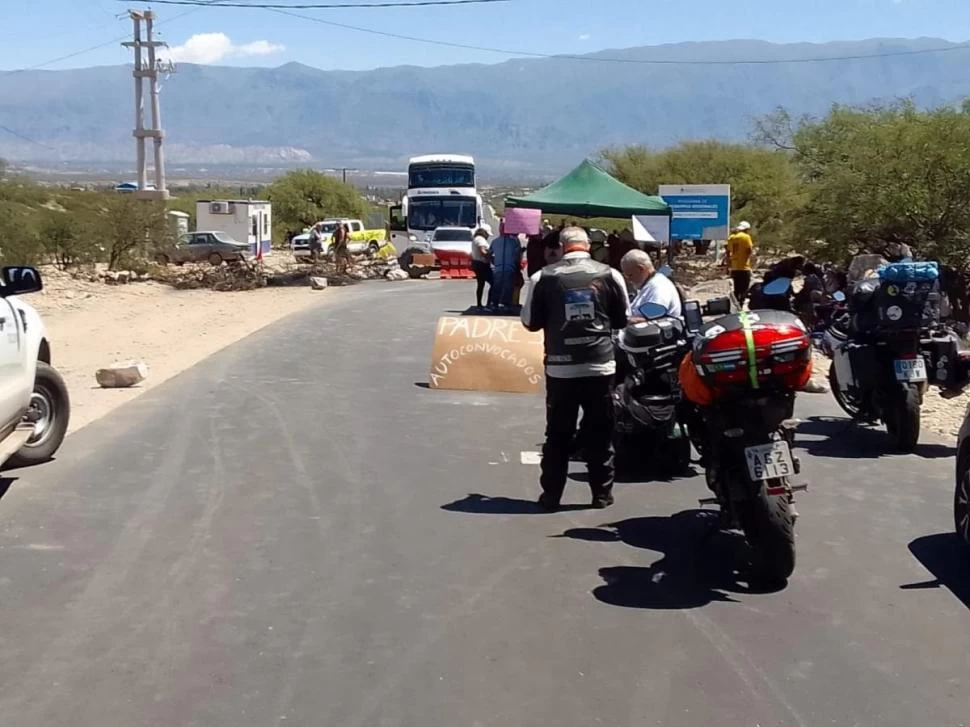
M593 589L603 603L625 608L700 608L733 603L731 593L770 593L752 586L742 569L747 546L737 534L717 529L712 511L685 510L671 517L631 518L599 528L573 528L560 536L589 542L622 542L663 553L649 566L601 568L604 583Z

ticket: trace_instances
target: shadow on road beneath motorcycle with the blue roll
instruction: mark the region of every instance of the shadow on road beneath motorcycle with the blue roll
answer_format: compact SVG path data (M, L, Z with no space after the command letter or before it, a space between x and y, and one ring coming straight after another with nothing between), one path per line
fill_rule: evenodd
M806 440L799 435L824 437ZM889 435L884 427L854 422L848 418L809 417L798 425L795 446L814 457L874 459L891 455ZM956 455L956 448L946 444L918 444L913 452L924 459Z

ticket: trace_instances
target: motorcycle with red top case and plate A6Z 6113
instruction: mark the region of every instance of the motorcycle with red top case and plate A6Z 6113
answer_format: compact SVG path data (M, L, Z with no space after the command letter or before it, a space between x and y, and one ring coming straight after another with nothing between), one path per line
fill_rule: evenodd
M795 568L795 392L811 376L811 340L785 311L741 311L703 326L680 367L688 423L724 529L740 529L754 574L783 582Z

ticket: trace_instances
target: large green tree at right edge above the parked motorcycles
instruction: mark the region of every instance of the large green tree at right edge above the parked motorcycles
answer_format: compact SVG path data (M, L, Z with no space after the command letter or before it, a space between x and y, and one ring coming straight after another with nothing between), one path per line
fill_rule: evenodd
M846 260L905 243L970 272L970 104L834 106L823 119L779 111L762 141L791 149L803 197L795 234Z

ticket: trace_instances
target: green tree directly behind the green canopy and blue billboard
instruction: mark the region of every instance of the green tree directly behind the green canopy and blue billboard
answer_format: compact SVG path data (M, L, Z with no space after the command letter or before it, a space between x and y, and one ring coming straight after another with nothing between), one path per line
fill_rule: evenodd
M731 214L755 227L760 245L786 247L798 186L789 155L749 144L690 141L654 152L643 146L607 149L609 171L648 194L660 184L730 184Z

